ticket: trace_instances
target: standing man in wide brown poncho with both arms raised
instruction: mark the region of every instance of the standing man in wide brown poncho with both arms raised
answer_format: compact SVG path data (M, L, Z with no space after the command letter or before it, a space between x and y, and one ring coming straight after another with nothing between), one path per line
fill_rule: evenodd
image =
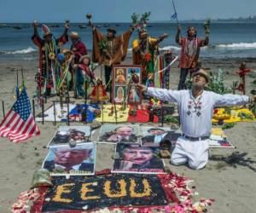
M127 32L117 37L117 32L113 28L108 28L108 34L103 35L96 26L92 25L90 19L89 24L93 31L92 61L104 65L105 82L108 84L113 65L125 60L131 33L135 28L132 26Z

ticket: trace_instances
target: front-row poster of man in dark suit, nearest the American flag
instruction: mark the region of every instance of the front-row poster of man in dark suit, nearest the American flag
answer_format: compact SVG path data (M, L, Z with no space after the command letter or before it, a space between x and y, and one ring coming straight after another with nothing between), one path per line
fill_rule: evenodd
M49 147L42 168L51 176L89 176L95 174L95 164L96 143L90 142L76 147Z

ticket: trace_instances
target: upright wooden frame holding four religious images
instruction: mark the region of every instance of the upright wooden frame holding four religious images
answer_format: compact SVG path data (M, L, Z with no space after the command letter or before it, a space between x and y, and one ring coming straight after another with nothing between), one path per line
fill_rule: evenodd
M143 95L136 84L142 82L141 66L113 66L112 102L129 105L141 104Z

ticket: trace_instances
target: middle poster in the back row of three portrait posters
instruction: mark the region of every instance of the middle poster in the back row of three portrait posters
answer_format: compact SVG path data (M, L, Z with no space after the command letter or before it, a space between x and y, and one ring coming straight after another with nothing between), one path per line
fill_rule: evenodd
M137 143L139 125L137 124L104 124L98 141L101 143Z

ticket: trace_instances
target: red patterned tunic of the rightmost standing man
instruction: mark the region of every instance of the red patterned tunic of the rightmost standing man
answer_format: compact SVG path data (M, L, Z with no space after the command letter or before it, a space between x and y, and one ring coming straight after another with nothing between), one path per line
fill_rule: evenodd
M179 62L180 68L195 68L196 61L198 60L200 48L204 46L204 39L195 37L195 54L194 55L187 55L186 49L189 42L187 37L181 38L181 57Z

